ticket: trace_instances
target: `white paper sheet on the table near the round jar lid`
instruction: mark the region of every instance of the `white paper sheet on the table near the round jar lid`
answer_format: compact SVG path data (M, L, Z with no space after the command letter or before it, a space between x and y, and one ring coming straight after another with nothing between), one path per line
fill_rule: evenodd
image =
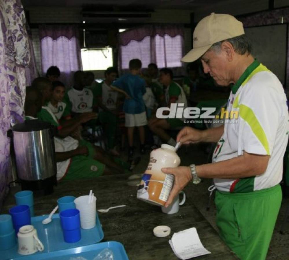
M196 228L174 233L169 243L175 255L183 260L211 254L211 252L202 245Z

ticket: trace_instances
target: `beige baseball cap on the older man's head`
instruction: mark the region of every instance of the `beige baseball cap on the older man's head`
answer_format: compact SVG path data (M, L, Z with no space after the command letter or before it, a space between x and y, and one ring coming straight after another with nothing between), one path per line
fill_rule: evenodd
M197 24L193 34L193 49L182 62L193 62L214 43L245 34L243 24L229 14L211 13Z

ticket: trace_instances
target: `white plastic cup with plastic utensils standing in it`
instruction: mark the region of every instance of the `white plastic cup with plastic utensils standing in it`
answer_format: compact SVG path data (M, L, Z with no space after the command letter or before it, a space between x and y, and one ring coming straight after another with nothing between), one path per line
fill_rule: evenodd
M88 203L89 195L84 195L74 200L75 207L80 211L80 226L82 229L92 229L96 221L96 197Z

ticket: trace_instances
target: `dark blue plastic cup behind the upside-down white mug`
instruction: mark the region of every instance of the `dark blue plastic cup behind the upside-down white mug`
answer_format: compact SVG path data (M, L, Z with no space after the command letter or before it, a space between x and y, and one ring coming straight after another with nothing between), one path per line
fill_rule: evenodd
M21 226L31 225L30 209L27 205L18 205L9 209L12 222L17 234Z

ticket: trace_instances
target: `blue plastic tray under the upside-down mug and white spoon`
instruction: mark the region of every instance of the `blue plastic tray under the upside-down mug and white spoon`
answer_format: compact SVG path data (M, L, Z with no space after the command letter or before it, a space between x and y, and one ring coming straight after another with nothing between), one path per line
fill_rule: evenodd
M81 239L76 243L66 243L64 241L58 214L52 216L53 220L49 224L42 224L42 220L47 217L48 215L43 215L31 218L31 224L36 228L38 237L44 245L44 250L30 255L30 257L33 256L35 258L29 259L40 259L40 255L46 252L95 244L100 242L104 237L97 213L95 227L92 229L80 229ZM13 248L0 250L0 259L22 259L23 257L24 256L18 254L18 243Z

